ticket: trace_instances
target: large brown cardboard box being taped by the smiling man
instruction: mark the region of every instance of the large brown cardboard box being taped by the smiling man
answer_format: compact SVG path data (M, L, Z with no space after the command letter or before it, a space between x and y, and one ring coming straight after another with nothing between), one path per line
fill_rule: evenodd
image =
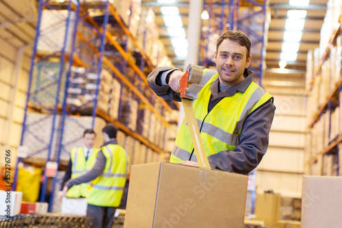
M244 227L246 175L157 162L130 180L124 228Z

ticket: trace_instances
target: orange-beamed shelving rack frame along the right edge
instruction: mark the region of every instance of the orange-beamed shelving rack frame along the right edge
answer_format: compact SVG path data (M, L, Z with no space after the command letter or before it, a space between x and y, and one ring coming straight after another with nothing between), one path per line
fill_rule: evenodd
M315 68L313 71L312 79L308 83L308 88L306 88L306 100L308 99L308 93L313 89L313 84L314 84L315 78L318 77L323 63L328 59L330 51L332 50L332 47L334 47L334 45L336 45L337 36L342 36L342 29L341 29L342 28L342 20L341 19L342 19L342 15L339 17L339 27L336 27L332 31L328 45L327 45L321 59L319 60L319 63L317 64L317 68ZM331 80L331 77L330 77L330 80ZM315 123L317 123L317 121L319 121L322 114L324 114L327 111L328 111L328 113L330 113L330 111L333 110L334 107L337 107L337 106L339 106L340 108L342 107L341 103L340 103L341 94L342 94L342 68L340 71L339 81L337 81L337 84L335 84L333 86L333 88L331 88L328 96L324 98L324 102L321 104L321 106L315 112L315 114L313 115L313 118L311 118L311 120L308 121L308 126L306 129L307 134L310 134L311 129L313 128ZM340 114L340 116L339 116L340 121L342 121L341 117L342 116ZM331 116L329 116L329 137L328 138L330 138L330 128L331 128ZM341 167L339 167L339 156L341 156L341 151L339 151L339 147L337 147L337 145L341 142L342 142L342 133L340 131L339 136L337 136L334 139L329 141L328 147L319 151L319 153L317 153L317 155L314 155L311 157L306 157L305 166L306 166L306 170L308 170L307 171L308 173L306 173L306 174L310 174L311 166L313 166L313 164L315 164L315 162L318 162L320 157L323 157L324 155L326 155L328 153L336 153L337 154L337 174L339 174L339 169L341 168Z

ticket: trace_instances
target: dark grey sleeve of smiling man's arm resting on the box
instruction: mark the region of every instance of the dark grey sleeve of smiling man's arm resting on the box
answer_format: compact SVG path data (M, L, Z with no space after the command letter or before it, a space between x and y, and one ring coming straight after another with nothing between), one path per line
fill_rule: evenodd
M254 110L242 127L239 144L233 151L220 151L208 157L211 168L248 174L258 166L268 147L274 118L273 98Z

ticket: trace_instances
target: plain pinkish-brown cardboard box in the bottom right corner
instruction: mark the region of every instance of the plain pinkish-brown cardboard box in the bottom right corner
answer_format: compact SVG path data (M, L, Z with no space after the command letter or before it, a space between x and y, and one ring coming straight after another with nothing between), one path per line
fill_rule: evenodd
M304 176L302 228L342 227L342 177Z

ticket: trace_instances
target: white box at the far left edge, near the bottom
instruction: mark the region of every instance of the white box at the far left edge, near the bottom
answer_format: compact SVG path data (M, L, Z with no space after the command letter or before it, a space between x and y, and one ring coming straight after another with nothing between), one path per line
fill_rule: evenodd
M0 190L0 216L16 216L21 211L23 192Z

